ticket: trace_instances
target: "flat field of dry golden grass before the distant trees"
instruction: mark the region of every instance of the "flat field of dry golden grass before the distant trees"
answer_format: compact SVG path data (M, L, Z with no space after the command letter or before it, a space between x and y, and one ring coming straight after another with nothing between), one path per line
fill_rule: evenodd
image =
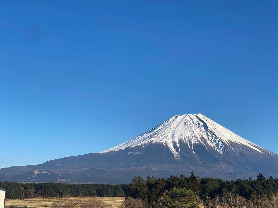
M76 201L80 200L81 202L89 201L92 198L69 198L67 201ZM106 202L109 206L120 206L121 203L125 200L125 197L98 197L97 199ZM10 206L28 206L28 208L45 208L51 207L53 202L64 200L64 199L24 199L24 200L8 200L5 202L5 207L9 208Z

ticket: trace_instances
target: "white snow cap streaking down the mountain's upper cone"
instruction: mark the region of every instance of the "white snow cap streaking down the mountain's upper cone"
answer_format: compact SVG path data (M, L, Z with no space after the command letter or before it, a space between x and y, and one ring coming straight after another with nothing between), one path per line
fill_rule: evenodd
M204 145L207 149L210 146L220 154L225 153L227 146L236 152L232 145L236 143L251 148L261 154L273 154L236 135L200 113L173 116L146 133L100 153L161 143L170 149L175 158L178 158L181 141L187 144L193 153L193 144L196 143Z

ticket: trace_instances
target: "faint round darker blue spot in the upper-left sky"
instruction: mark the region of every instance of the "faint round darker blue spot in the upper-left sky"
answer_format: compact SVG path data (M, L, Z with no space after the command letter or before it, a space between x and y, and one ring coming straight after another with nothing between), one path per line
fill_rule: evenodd
M42 29L39 25L26 25L23 28L23 37L28 42L38 42L42 37Z

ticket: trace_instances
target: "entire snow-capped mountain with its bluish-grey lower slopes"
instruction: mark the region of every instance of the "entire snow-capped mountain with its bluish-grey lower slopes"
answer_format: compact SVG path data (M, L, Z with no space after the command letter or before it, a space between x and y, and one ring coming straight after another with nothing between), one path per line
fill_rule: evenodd
M135 175L237 179L278 177L278 155L202 114L176 115L100 153L0 169L1 181L128 183Z

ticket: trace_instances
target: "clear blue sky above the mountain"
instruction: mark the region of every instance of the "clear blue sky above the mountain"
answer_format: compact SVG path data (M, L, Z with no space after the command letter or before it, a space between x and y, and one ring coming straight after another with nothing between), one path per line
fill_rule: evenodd
M202 113L278 154L277 1L1 1L0 168Z

